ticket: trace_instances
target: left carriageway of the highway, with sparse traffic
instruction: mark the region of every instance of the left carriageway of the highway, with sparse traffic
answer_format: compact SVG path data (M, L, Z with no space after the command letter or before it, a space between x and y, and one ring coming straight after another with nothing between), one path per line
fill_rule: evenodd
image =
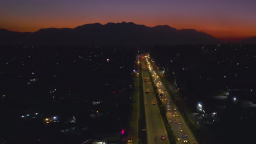
M162 121L160 114L158 104L156 103L156 98L153 93L153 87L150 84L147 84L150 81L150 78L148 79L148 82L145 81L146 77L149 77L149 71L146 67L146 61L141 61L142 65L142 80L143 80L143 97L145 102L145 113L146 113L146 130L147 130L147 143L148 144L156 144L156 143L162 143L162 144L169 144L167 138L166 129L164 126L164 123ZM149 89L149 93L146 93L147 89ZM150 100L152 102L150 103ZM155 102L155 105L153 105L153 101ZM164 135L166 138L165 140L161 140L161 135ZM157 140L155 140L155 137L157 137Z

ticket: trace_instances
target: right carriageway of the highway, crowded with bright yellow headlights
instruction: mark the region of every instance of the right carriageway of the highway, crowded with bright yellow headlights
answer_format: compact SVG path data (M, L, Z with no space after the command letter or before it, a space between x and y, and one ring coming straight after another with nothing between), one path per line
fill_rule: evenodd
M148 59L146 60L148 61ZM150 67L151 65L149 62L147 62L147 65L150 68L150 74L152 74L154 82L158 83L157 87L159 91L163 93L163 98L160 98L162 100L162 103L165 105L166 109L167 109L167 104L171 105L171 111L167 111L167 119L168 121L171 121L170 124L174 134L176 135L178 143L184 143L182 135L185 135L185 134L187 134L187 140L188 140L187 143L193 143L193 140L195 140L195 143L197 143L195 136L189 129L187 123L185 123L184 118L181 116L181 113L178 111L177 106L174 104L174 101L170 97L170 94L166 91L166 88L164 87L164 85L161 84L159 75L157 75L155 71L152 69L152 67ZM179 123L181 123L181 125Z

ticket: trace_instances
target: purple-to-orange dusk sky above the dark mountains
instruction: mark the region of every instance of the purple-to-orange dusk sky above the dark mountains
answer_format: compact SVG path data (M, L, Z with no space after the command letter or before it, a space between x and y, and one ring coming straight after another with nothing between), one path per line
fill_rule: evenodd
M35 32L85 23L193 28L219 39L256 36L255 0L3 0L0 28Z

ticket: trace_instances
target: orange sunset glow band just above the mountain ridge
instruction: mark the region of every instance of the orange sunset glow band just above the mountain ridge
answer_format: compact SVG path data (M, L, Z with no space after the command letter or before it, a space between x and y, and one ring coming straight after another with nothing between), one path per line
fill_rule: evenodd
M48 22L44 22L44 23L25 23L25 22L21 22L19 25L17 25L17 23L2 23L2 25L0 25L2 28L8 29L9 31L16 31L16 32L36 32L41 28L50 28L50 27L55 27L55 28L74 28L77 26L81 26L84 25L86 23L96 23L98 21L89 21L89 22L83 22L83 21L78 21L78 22L63 22L63 21L55 21L53 22L53 25L50 25L50 23ZM110 21L111 22L111 21ZM114 22L118 22L118 21L114 21ZM122 22L122 21L119 21ZM130 22L130 21L126 21L126 22ZM99 22L102 25L108 23L107 21L102 21ZM223 30L224 28L218 28L218 27L214 27L207 29L206 27L200 26L200 25L196 25L196 23L191 23L191 25L188 25L188 23L186 23L186 25L188 25L187 27L185 27L186 25L184 25L184 23L173 23L173 22L167 22L167 23L158 23L158 22L148 22L148 23L143 23L140 21L134 22L138 25L146 25L149 27L154 27L157 25L168 25L170 27L176 28L176 29L183 29L183 28L187 28L187 29L196 29L196 31L201 31L201 32L205 32L207 34L212 35L213 37L216 37L218 39L221 40L226 40L226 41L232 41L232 40L241 40L244 38L248 38L248 37L253 37L256 35L256 31L251 31L252 28L247 28L247 29L230 29L230 30ZM172 23L172 25L170 25L170 23ZM227 28L228 29L228 28Z

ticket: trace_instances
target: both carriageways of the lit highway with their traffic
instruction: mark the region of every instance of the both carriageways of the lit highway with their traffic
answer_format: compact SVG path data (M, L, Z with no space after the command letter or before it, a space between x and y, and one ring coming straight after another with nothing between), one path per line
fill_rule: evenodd
M140 97L144 97L147 143L170 143L164 121L160 115L156 96L159 97L162 104L165 106L166 118L176 136L176 142L197 143L195 136L189 129L187 123L185 123L176 104L171 99L171 95L167 92L165 86L162 85L158 73L153 69L149 55L144 56L139 63L141 63L143 82L143 95L140 95ZM152 77L153 80L150 80L150 77ZM153 84L157 87L158 95L154 93ZM133 143L132 139L129 138L127 143Z

